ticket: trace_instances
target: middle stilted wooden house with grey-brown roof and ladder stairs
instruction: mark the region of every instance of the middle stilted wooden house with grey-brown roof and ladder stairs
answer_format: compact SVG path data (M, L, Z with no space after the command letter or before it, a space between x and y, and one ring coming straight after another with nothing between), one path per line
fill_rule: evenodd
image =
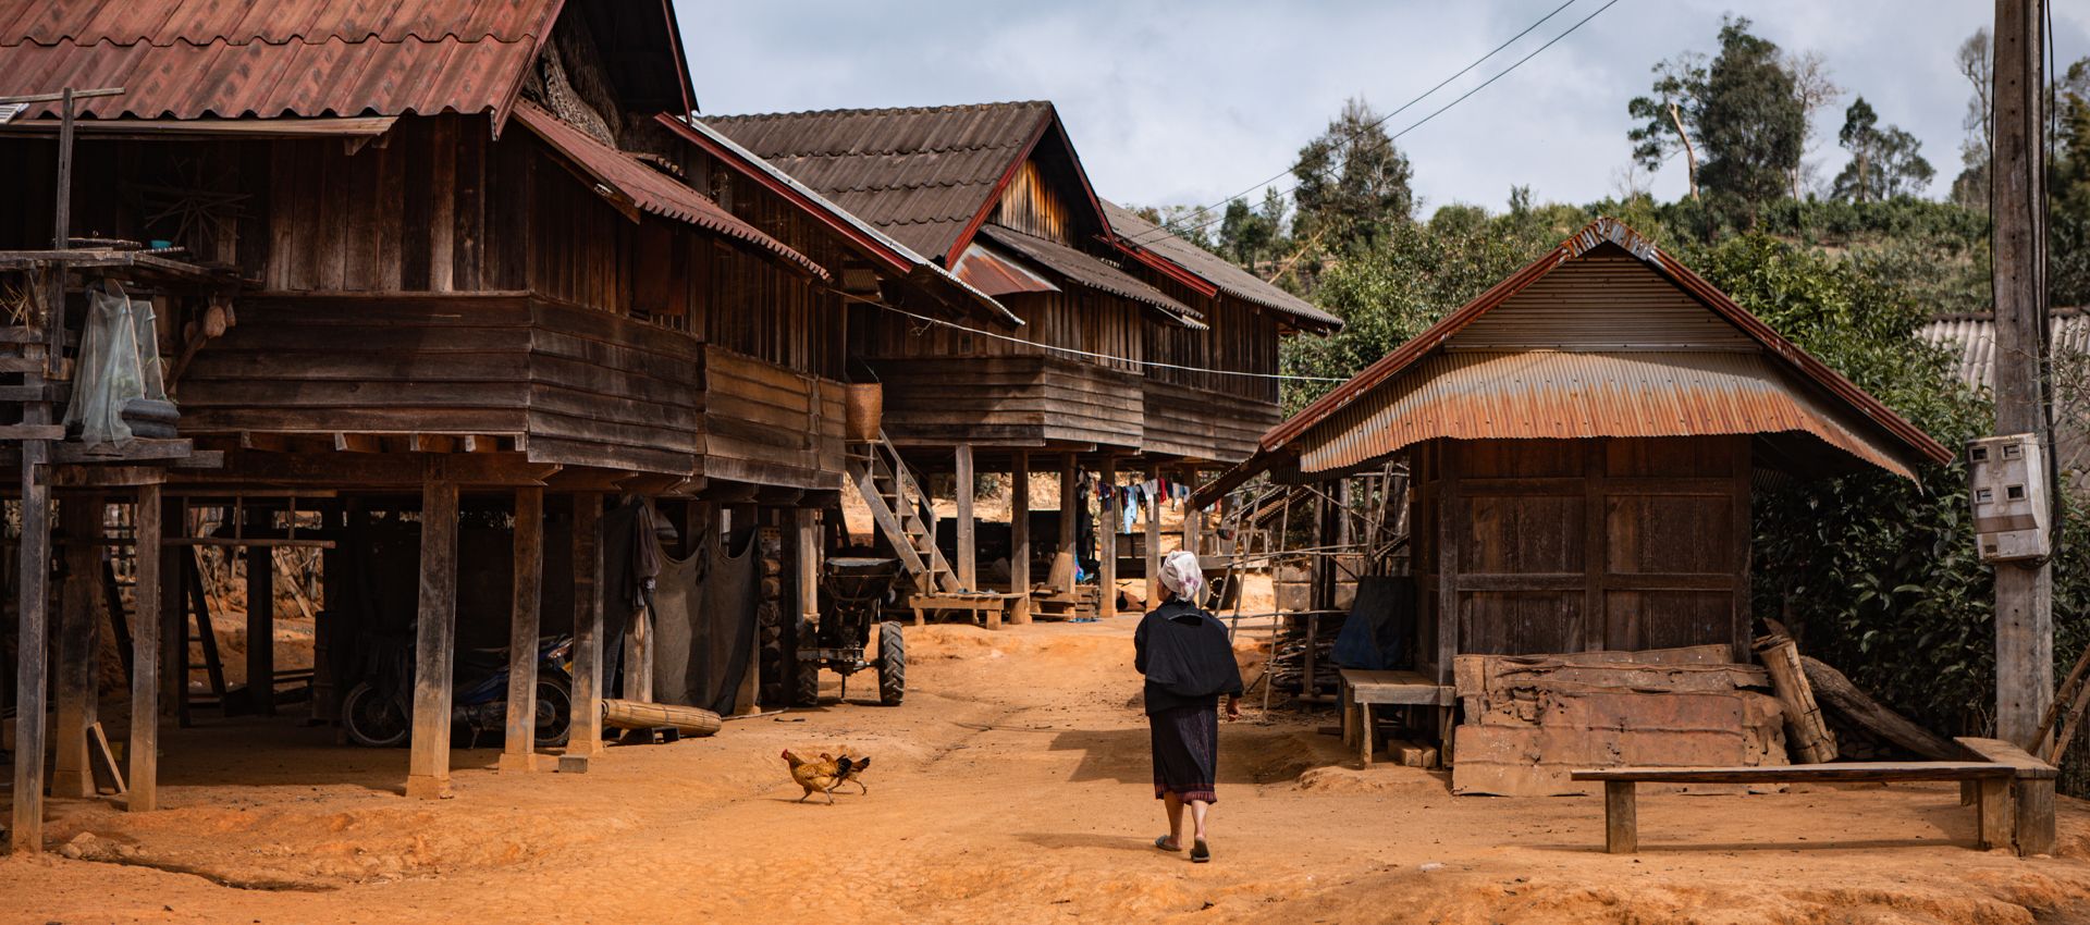
M1060 568L1041 603L1078 603L1076 472L1114 484L1118 470L1183 478L1244 459L1252 434L1277 420L1279 338L1340 326L1097 198L1049 102L704 117L702 127L1022 322L930 324L876 299L851 315L851 372L884 388L884 441L865 447L853 480L890 545L903 558L922 549L918 589L938 601L986 585L966 562L976 466L1060 470ZM957 476L959 562L930 549L932 524L905 501L920 497L907 470ZM1026 509L1028 497L1016 503ZM1114 537L1099 530L1106 587ZM1014 518L1012 547L1009 593L1028 597L1028 518ZM1150 558L1158 549L1150 543ZM1099 610L1112 608L1101 595Z

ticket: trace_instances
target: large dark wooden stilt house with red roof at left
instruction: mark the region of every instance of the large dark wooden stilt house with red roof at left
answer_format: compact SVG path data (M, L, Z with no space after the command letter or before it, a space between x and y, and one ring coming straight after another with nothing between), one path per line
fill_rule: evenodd
M63 90L104 92L79 94L77 119L65 119ZM357 599L372 530L405 530L420 558L403 591L418 610L418 796L447 787L460 572L466 585L512 574L512 595L500 589L489 610L495 626L512 620L522 668L508 702L512 768L533 766L539 608L554 628L571 606L577 637L562 760L585 768L600 748L602 641L631 618L604 601L619 580L602 564L606 499L658 512L688 547L725 526L771 530L763 555L798 570L780 595L809 595L813 560L775 530L796 522L809 537L798 512L832 505L844 474L840 282L690 186L683 142L656 121L694 109L669 4L410 2L368 15L59 0L0 13L0 96L38 94L0 121L0 163L17 180L0 190L0 276L59 286L71 309L38 307L23 328L63 345L79 326L79 286L127 278L161 309L182 409L180 441L155 449L186 457L178 466L86 470L56 441L8 455L25 491L56 484L77 501L67 509L79 524L96 524L111 497L130 501L140 570L167 566L136 591L136 664L161 670L138 670L134 716L184 704L196 614L176 601L194 597L182 560L199 543L247 549L255 639L272 635L270 549L328 549L328 568L349 574L320 616L326 645L382 610ZM0 384L21 420L36 401L48 407L46 374L65 388L56 359L0 363L6 382L23 376ZM144 526L159 499L165 539ZM245 518L190 537L199 507ZM460 509L468 524L504 524L514 555L502 545L493 562L460 562ZM23 505L23 524L42 524L40 501ZM552 555L545 537L560 543ZM33 547L27 537L21 574L46 572ZM77 532L73 547L88 549ZM42 628L21 616L42 612L42 583L19 585L15 706L42 716ZM77 791L67 756L92 722L92 631L71 610L59 622L54 737L61 779L73 775L61 791ZM324 699L328 658L316 672ZM272 712L268 645L249 649L249 677L247 702ZM742 708L754 702L748 677ZM627 693L644 687L625 681ZM42 754L40 722L21 729L19 754ZM132 808L153 806L153 729L134 725ZM38 846L40 775L42 762L17 762L17 848Z

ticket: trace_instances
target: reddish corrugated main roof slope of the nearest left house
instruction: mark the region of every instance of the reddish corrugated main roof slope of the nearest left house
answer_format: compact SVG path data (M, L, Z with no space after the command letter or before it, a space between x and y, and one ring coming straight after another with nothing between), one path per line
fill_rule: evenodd
M502 113L560 0L48 0L0 13L0 94L90 119ZM56 115L33 104L27 119Z

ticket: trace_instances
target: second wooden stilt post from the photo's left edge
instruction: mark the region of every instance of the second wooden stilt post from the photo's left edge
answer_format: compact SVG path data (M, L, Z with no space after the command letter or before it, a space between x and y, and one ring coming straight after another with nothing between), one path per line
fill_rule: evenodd
M65 591L59 595L59 758L50 777L50 796L92 798L94 766L88 758L88 729L96 722L96 645L94 601L100 597L102 497L79 495L59 501L65 522Z

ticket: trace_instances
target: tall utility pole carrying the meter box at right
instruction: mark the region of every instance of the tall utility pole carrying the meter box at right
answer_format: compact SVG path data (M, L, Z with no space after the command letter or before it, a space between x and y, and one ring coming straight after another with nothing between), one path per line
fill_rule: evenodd
M1994 203L1996 434L2038 434L2046 413L2044 0L1996 0ZM1996 735L2038 752L2054 699L2052 576L2044 560L1996 564Z

